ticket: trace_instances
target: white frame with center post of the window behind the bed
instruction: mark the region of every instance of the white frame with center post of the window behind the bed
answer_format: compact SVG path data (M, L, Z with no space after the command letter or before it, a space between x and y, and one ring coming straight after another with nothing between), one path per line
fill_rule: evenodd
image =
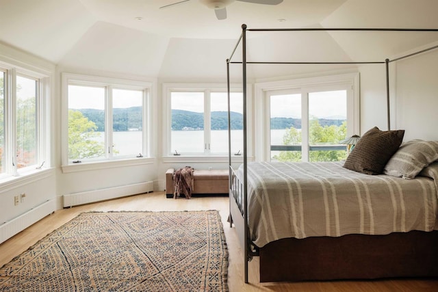
M270 161L270 106L269 92L294 92L302 96L302 129L309 127L308 98L311 92L329 91L344 87L351 88L347 93L347 135L358 134L360 131L359 111L359 72L342 75L328 75L323 77L309 77L272 81L255 84L255 120L257 135L255 137L256 161ZM348 92L349 90L347 90ZM302 131L302 161L309 160L309 133Z

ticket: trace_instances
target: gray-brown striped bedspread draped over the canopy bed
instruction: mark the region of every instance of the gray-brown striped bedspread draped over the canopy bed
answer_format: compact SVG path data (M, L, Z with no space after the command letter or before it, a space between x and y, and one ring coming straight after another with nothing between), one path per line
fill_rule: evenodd
M270 241L438 229L435 170L407 180L347 170L342 162L248 163L248 226ZM237 178L243 181L242 165Z

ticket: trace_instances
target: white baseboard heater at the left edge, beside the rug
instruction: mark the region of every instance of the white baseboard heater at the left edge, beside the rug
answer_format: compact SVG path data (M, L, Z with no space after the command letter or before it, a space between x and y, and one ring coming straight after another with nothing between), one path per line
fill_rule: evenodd
M32 224L53 213L56 209L55 199L47 200L14 219L0 225L0 243L10 239Z

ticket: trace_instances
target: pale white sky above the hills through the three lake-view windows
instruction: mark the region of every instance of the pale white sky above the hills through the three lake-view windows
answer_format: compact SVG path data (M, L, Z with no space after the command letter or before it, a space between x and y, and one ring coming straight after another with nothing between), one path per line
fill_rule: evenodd
M104 109L105 90L99 87L68 86L68 108ZM172 92L172 109L203 112L203 92ZM96 96L90 98L90 96ZM300 118L300 94L271 95L271 118ZM309 94L309 115L318 118L346 118L346 91L312 92ZM114 90L114 107L141 105L138 90ZM211 92L211 111L227 111L227 92ZM85 106L86 105L86 106ZM242 113L242 93L231 93L231 111Z

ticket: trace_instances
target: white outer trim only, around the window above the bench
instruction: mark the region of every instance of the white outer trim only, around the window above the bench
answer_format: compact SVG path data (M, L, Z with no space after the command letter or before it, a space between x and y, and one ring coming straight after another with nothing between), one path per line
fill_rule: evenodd
M252 98L252 85L248 84L246 89L246 113L247 120L252 120L252 109L253 109L253 98ZM216 155L216 154L196 154L196 155L172 155L170 150L170 124L171 124L171 109L170 109L170 94L175 91L209 91L209 92L227 92L227 83L163 83L162 87L162 114L163 114L163 136L162 136L162 160L163 162L227 162L229 157L228 153L226 155ZM242 92L242 84L231 83L231 92ZM253 133L252 122L247 124L247 132ZM247 155L252 157L252 143L250 139L247 142ZM240 161L243 159L238 158L235 161Z

